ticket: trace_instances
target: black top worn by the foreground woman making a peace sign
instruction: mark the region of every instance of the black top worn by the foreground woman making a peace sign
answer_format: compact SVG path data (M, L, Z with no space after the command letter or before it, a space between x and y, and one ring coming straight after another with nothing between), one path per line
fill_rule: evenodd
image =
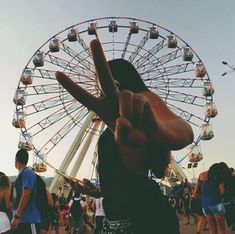
M112 133L106 130L103 134ZM108 147L100 150L100 144ZM120 155L114 153L115 144L101 136L98 146L98 169L107 219L130 219L135 234L178 234L176 213L159 185L148 176L127 170Z

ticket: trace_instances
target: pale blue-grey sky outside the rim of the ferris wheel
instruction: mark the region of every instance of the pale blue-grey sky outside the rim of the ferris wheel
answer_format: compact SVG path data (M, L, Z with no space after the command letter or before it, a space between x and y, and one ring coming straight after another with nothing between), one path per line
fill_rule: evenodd
M11 125L15 89L25 65L34 52L54 34L76 23L105 16L124 16L148 20L183 38L204 62L215 88L218 116L213 119L215 136L201 145L203 161L194 169L184 169L188 177L197 176L215 162L235 167L234 115L235 73L221 61L235 64L234 0L2 0L0 7L0 171L14 175L14 157L19 131ZM63 146L61 145L61 148ZM177 160L182 158L180 153ZM58 161L54 160L55 167ZM188 160L182 162L187 168ZM89 170L87 166L84 170Z

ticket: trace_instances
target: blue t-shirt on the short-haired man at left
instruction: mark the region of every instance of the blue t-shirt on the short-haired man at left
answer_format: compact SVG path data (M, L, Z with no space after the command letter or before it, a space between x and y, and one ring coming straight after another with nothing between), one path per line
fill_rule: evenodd
M13 213L15 214L20 202L23 188L30 189L31 197L24 209L24 212L20 218L21 223L40 223L40 213L36 208L33 197L40 196L36 194L36 175L30 168L25 168L20 171L18 177L15 180L14 187L16 190L16 199L13 203Z

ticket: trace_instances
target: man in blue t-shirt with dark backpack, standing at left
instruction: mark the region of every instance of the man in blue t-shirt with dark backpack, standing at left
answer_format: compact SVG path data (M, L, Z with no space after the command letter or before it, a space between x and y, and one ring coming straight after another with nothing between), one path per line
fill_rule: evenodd
M39 233L40 213L34 202L34 196L37 196L36 175L27 167L28 158L28 152L24 149L18 150L15 156L15 167L19 174L14 182L11 228L16 234Z

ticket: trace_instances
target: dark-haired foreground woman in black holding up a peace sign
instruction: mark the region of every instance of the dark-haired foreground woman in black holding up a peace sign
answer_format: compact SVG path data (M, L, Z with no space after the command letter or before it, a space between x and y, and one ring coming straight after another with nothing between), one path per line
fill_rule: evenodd
M62 72L56 78L107 125L98 142L106 214L102 233L178 234L175 211L152 177L164 176L170 151L190 144L192 129L148 89L131 63L124 59L107 63L98 40L90 49L102 88L99 98Z

